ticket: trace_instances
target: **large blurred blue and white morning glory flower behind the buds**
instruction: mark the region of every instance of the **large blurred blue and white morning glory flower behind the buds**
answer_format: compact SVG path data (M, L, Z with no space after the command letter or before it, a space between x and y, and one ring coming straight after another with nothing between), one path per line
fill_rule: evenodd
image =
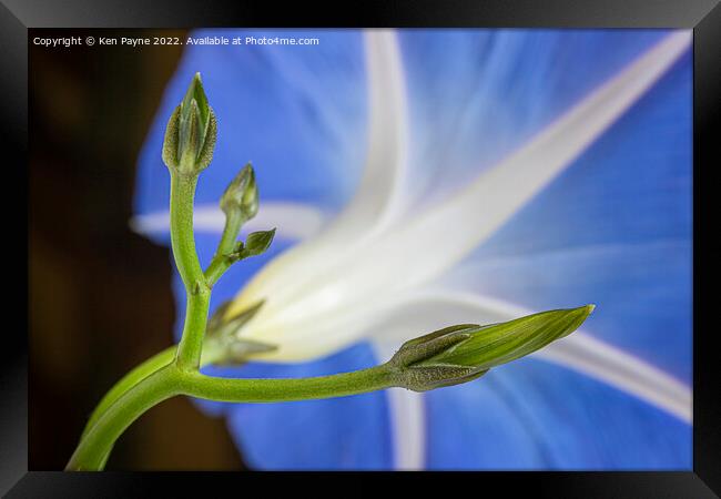
M141 152L132 223L167 244L162 116L200 71L219 122L197 187L201 259L246 161L261 207L245 228L277 227L213 295L229 314L264 299L237 334L277 348L213 374L346 371L449 324L598 306L466 385L201 404L252 467L691 467L690 32L197 34L319 39L186 48Z

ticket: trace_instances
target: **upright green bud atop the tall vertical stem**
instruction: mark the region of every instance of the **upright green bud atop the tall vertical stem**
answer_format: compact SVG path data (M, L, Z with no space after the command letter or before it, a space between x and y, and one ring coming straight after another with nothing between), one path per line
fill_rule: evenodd
M195 73L187 92L167 121L163 142L163 162L170 169L196 174L213 159L217 124L207 104L200 73Z

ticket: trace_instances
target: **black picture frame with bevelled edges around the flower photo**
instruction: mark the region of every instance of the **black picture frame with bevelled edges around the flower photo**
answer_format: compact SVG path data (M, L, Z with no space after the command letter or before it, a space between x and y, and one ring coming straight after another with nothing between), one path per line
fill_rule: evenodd
M313 8L314 7L314 8ZM6 175L23 180L28 152L28 29L30 28L191 28L257 27L518 27L518 28L683 28L693 30L693 471L688 472L484 472L453 473L478 493L486 487L512 492L532 487L536 497L705 498L721 493L721 405L717 328L713 222L718 211L721 141L721 7L719 0L364 0L312 6L311 2L190 0L3 0L0 4L2 59L2 151L13 153ZM9 161L9 160L8 160ZM10 171L12 170L12 172ZM10 185L11 180L6 176ZM4 190L7 193L7 189ZM22 192L22 190L18 190ZM6 196L4 203L9 200ZM717 206L714 208L713 206ZM29 206L30 208L30 206ZM9 208L6 208L9 210ZM16 207L17 211L17 207ZM8 211L6 211L8 213ZM20 218L20 217L18 217ZM21 218L18 220L22 224ZM20 226L17 234L26 233ZM13 237L16 237L13 235ZM19 241L21 237L17 236ZM13 244L16 258L27 247ZM6 278L10 278L6 276ZM18 277L20 278L20 277ZM7 282L6 282L7 283ZM17 296L20 296L18 293ZM18 304L20 306L20 304ZM29 317L31 310L28 310ZM22 324L22 322L21 322ZM28 471L27 327L6 335L0 366L0 492L24 497L184 497L220 488L251 490L272 473L67 473ZM335 473L359 487L366 480L398 479L407 485L447 480L448 473ZM316 473L283 473L284 485L317 483ZM325 479L325 478L324 478ZM299 485L299 483L298 483ZM358 487L358 486L356 486ZM365 485L368 487L368 485ZM460 485L459 487L465 487ZM313 487L316 489L317 486ZM312 489L312 490L313 490ZM373 493L373 489L368 489ZM172 491L172 492L171 492ZM714 493L715 491L715 493Z

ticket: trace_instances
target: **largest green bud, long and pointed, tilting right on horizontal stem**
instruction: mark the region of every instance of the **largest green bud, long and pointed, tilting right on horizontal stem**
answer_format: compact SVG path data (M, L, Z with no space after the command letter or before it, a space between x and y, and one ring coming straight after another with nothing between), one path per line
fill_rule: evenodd
M568 336L593 308L586 305L500 324L451 326L412 339L389 360L395 368L395 381L414 391L426 391L476 379L492 367Z

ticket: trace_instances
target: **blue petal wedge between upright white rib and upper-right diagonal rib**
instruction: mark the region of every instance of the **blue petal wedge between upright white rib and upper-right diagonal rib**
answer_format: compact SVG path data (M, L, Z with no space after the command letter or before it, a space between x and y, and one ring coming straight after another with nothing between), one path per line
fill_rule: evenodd
M492 166L612 78L663 30L400 31L416 193Z

